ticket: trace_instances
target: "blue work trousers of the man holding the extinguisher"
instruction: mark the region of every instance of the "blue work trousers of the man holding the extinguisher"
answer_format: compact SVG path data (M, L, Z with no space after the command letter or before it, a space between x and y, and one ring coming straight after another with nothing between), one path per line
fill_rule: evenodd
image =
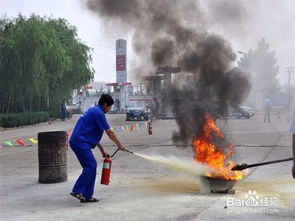
M83 171L73 187L73 192L82 194L86 199L90 199L94 192L97 168L96 160L91 148L82 149L73 145L71 147L83 167Z

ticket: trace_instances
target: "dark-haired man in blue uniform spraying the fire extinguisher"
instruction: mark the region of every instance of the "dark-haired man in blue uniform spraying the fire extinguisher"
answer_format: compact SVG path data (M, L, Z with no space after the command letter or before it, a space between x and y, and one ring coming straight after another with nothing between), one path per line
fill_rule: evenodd
M98 202L98 199L93 197L97 163L91 149L98 146L102 155L104 157L108 156L99 143L103 132L106 131L109 138L120 150L126 150L110 128L105 117L113 104L113 98L108 94L103 94L97 106L89 108L81 115L70 139L70 146L83 167L82 174L76 181L71 195L79 199L81 203Z

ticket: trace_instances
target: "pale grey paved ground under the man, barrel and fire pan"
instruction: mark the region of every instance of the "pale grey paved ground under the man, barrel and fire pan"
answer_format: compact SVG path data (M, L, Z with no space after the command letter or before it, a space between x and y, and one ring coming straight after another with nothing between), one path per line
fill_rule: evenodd
M108 115L110 124L123 125L124 116ZM66 122L2 130L0 142L37 137L38 132L70 130L76 117ZM130 123L130 122L128 122ZM255 163L291 156L291 134L284 116L264 124L261 116L250 120L219 121L236 144L237 162ZM127 148L147 155L174 155L190 158L190 148L175 147L172 120L153 124L147 131L119 133ZM110 153L115 147L105 137L102 143ZM101 171L102 157L94 150ZM273 164L248 171L246 179L235 186L235 194L204 192L198 177L186 175L128 153L113 159L111 184L99 184L96 204L81 204L69 193L81 169L72 151L68 151L68 181L39 184L38 147L1 148L1 220L294 220L295 181L291 162ZM245 195L247 194L247 195ZM252 199L252 201L247 201ZM245 201L249 204L245 205ZM258 205L256 205L256 204Z

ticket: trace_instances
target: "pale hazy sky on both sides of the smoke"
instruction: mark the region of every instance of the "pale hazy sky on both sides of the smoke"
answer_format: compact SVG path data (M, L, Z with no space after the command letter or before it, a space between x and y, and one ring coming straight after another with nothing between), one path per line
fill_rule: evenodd
M95 81L115 82L115 41L119 38L127 40L127 62L130 67L135 56L131 47L131 34L128 31L124 34L107 32L103 21L89 11L83 1L0 0L0 15L16 17L19 13L25 16L34 13L65 18L77 27L81 41L93 49ZM258 40L265 38L270 44L270 50L276 53L280 82L287 82L286 67L295 67L295 0L235 0L241 5L240 20L232 20L229 14L220 15L220 11L214 11L215 4L224 0L200 1L204 11L210 11L207 16L208 31L227 39L234 51L255 49ZM223 22L216 19L217 14L218 17L225 16ZM240 56L237 54L238 59ZM295 83L295 73L291 80Z

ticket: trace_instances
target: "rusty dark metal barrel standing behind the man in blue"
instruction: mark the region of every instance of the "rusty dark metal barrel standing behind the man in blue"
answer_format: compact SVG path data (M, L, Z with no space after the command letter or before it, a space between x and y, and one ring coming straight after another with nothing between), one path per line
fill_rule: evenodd
M59 183L67 175L67 133L38 133L39 183Z

